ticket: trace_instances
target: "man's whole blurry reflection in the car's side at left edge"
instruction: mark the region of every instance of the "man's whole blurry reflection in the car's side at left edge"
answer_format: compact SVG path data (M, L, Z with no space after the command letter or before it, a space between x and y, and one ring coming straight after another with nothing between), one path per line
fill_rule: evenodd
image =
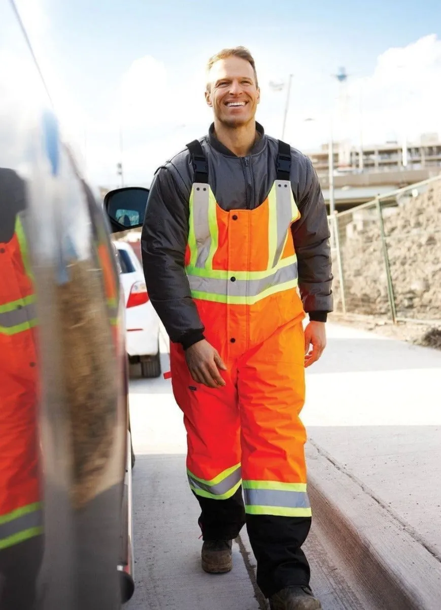
M0 168L0 608L27 610L43 553L35 296L24 182Z

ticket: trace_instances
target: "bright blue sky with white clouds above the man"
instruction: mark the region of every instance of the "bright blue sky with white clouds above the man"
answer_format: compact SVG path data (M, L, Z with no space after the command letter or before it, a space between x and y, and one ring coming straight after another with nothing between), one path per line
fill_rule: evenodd
M308 152L441 136L439 0L16 0L66 137L95 185L149 184L211 123L205 64L244 45L257 119ZM347 82L335 75L344 66ZM270 85L283 85L276 91Z

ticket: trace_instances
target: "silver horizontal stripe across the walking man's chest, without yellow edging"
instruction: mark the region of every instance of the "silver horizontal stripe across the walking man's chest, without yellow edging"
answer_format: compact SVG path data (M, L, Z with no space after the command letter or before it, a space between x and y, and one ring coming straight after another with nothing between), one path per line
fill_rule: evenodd
M234 271L231 272L234 277ZM275 273L261 279L230 279L200 278L196 275L188 275L188 281L192 292L206 292L211 295L228 296L258 296L272 286L284 284L297 279L297 262L281 267Z

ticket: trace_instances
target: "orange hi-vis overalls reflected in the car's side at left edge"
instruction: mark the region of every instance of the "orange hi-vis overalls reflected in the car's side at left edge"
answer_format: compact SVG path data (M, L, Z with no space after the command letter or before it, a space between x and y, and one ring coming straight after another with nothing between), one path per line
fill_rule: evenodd
M41 533L35 296L26 237L0 243L0 550Z

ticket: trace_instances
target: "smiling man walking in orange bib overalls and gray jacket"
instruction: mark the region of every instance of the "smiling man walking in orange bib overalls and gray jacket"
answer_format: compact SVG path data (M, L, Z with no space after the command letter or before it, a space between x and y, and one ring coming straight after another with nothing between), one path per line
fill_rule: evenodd
M298 415L332 310L329 232L311 162L264 134L259 96L247 49L211 58L214 124L158 170L143 265L172 342L202 567L231 569L231 540L246 521L270 608L314 610L322 606L300 548L311 508Z

